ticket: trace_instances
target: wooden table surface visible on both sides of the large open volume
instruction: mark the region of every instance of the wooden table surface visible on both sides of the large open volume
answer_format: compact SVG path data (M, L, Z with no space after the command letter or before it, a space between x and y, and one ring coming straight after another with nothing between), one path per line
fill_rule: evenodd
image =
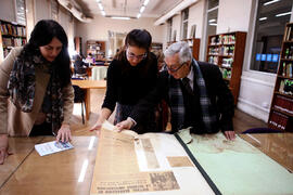
M293 133L240 134L240 136L288 170L292 170ZM36 143L52 140L54 140L52 136L10 138L11 151L14 155L9 156L5 164L0 166L0 194L85 195L90 193L97 138L74 136L72 141L74 150L43 157L34 150ZM91 142L92 148L89 150ZM87 167L85 177L80 177L82 167Z

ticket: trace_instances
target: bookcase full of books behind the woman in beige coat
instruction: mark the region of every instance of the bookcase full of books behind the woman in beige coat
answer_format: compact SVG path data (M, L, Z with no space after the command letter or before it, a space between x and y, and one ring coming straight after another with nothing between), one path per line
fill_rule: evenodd
M0 21L0 63L13 47L26 43L26 27L16 23Z

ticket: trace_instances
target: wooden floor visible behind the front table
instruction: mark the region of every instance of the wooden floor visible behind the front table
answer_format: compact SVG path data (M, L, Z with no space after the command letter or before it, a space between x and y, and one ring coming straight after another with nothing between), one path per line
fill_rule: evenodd
M90 132L89 130L98 120L99 112L101 108L101 104L104 99L105 90L101 89L92 89L91 90L91 114L90 119L86 120L86 123L82 125L81 120L81 105L74 105L74 116L72 117L72 126L71 129L73 131L73 135L92 135L95 132ZM113 122L114 116L112 115L110 121ZM267 127L267 123L256 119L239 109L235 109L235 115L233 118L234 130L237 133L241 133L250 128L260 128Z

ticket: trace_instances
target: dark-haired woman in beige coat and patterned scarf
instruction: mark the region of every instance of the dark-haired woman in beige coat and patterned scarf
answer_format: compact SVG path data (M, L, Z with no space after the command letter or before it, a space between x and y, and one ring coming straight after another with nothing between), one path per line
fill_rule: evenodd
M71 139L74 91L67 36L60 24L39 21L23 48L0 65L0 164L8 157L8 135Z

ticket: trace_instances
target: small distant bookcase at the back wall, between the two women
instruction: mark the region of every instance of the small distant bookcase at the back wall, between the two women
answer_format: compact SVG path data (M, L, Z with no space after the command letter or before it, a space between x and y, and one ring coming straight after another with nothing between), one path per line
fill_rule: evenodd
M105 41L88 40L87 55L91 53L95 61L101 61L105 57Z

